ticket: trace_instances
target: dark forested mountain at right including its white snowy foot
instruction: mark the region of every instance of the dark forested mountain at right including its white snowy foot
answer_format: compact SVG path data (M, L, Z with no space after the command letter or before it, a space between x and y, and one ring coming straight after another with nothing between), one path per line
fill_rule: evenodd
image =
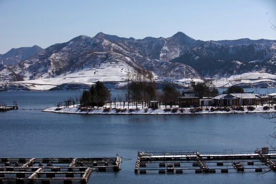
M206 41L200 47L189 50L171 62L188 64L204 78L215 81L233 79L231 85L276 85L276 40L246 38ZM224 85L228 87L230 84L225 82ZM221 87L223 84L220 83L218 86Z

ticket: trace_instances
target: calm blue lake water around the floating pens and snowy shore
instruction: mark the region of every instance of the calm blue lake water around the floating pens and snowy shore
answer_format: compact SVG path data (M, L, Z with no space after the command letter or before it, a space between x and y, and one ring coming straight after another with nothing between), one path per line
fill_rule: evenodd
M275 183L275 172L134 174L138 150L222 152L268 147L267 136L275 125L259 114L106 116L28 110L80 94L1 92L1 102L18 101L21 106L0 113L0 157L101 157L117 153L123 157L120 172L93 173L89 183Z

